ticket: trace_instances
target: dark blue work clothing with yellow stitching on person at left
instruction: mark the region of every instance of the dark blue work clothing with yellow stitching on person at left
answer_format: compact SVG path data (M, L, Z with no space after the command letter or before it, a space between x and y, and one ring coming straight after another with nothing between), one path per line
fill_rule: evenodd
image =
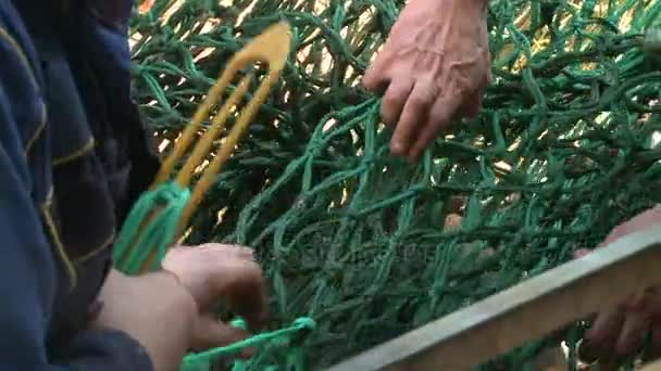
M130 0L0 0L0 370L151 370L88 330L159 162L129 97Z

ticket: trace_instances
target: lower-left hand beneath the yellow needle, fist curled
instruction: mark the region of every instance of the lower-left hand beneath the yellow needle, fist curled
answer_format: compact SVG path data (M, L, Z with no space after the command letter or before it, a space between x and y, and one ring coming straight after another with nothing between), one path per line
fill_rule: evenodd
M103 309L95 323L136 338L154 370L178 370L189 349L223 346L247 336L212 318L216 299L226 299L251 330L264 322L263 279L249 248L220 244L176 247L162 267L140 277L112 270L101 291Z

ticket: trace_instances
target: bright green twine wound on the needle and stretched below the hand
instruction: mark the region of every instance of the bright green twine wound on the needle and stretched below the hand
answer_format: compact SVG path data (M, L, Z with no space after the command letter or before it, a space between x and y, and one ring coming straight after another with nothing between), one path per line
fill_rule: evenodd
M150 270L158 269L165 256L167 245L174 239L177 222L189 197L190 191L180 188L174 181L164 182L153 191L145 192L128 214L115 242L113 248L115 269L125 274L138 274L140 267L152 251L155 251L157 254L155 259L150 265ZM151 219L148 219L152 213L155 214ZM149 221L142 227L145 220ZM140 227L144 228L144 232L138 236ZM137 240L136 236L138 236ZM132 244L134 241L135 244ZM129 248L130 246L139 247ZM235 320L233 325L245 328L245 323L240 319ZM207 371L210 369L211 362L222 356L266 342L285 342L294 333L305 329L313 330L314 327L314 320L305 317L299 318L290 327L280 330L261 333L224 347L212 348L199 354L189 354L184 357L179 370ZM291 370L303 370L301 349L292 348L288 358ZM247 361L234 361L233 371L245 371L247 368Z

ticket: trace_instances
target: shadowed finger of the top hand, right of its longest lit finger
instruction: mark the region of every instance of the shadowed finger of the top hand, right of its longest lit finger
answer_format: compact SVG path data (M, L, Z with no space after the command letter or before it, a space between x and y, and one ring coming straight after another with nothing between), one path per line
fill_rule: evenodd
M447 91L452 91L448 89ZM409 161L415 161L424 149L439 135L441 129L450 126L450 120L459 107L459 94L445 94L436 101L427 121L408 153Z

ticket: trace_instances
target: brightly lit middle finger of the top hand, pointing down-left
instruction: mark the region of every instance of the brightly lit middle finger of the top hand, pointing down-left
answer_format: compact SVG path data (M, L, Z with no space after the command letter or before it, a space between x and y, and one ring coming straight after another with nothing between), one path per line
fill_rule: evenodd
M411 142L415 139L415 133L427 117L427 112L436 93L434 89L426 85L415 85L390 140L390 152L392 154L403 155L409 152Z

